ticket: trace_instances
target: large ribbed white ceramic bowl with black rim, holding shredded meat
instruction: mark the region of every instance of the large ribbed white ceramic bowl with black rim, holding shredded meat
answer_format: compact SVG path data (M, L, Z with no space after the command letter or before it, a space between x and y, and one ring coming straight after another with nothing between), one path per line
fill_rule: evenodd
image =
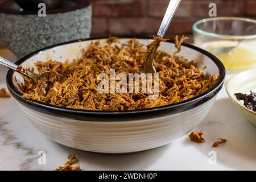
M127 42L130 38L121 38ZM23 57L16 64L24 68L34 67L35 61L48 59L64 62L81 56L81 48L88 48L97 39L76 40L48 47ZM106 38L100 39L106 44ZM147 45L149 38L140 38ZM162 43L162 51L172 54L176 49L172 41ZM148 150L171 143L196 127L208 114L220 91L225 77L225 68L215 56L190 44L183 44L180 56L197 61L205 74L216 74L219 78L207 92L177 104L142 110L89 111L65 109L26 100L16 89L23 78L19 73L7 73L10 93L24 111L28 120L42 133L65 146L85 151L104 153L129 153ZM34 67L35 68L35 67Z

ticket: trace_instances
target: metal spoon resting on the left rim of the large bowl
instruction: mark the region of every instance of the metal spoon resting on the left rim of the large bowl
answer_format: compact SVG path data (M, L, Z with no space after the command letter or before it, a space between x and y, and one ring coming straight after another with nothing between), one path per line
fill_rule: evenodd
M0 56L0 64L7 68L13 69L15 72L18 72L28 78L31 78L34 82L38 82L45 78L47 78L47 80L48 80L49 74L51 73L49 71L44 71L44 72L40 73L39 75L34 75L30 71L27 71L26 69L22 68L21 66L18 66L9 60L6 60L5 58L3 58L1 56ZM56 76L59 81L65 80L65 77L63 75L61 75L60 73L56 73Z

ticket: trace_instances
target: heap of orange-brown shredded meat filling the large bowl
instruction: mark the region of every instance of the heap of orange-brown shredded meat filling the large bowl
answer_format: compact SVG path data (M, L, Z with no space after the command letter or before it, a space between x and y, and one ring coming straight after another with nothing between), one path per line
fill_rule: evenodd
M149 51L138 40L134 38L121 46L113 45L117 41L117 38L110 38L106 46L102 46L100 42L92 42L88 49L83 50L82 57L72 62L37 61L35 65L39 73L57 72L67 79L49 85L47 93L43 94L40 86L24 77L24 84L19 86L23 97L73 109L144 109L174 104L198 96L212 87L218 79L216 75L205 76L201 69L196 68L194 61L156 51L152 57L154 67L159 73L159 97L156 100L148 100L150 94L146 93L99 93L97 86L100 81L97 76L100 73L106 73L110 77L110 68L115 69L116 74L139 73L147 61ZM180 42L178 41L177 48L180 47ZM152 46L154 49L158 45Z

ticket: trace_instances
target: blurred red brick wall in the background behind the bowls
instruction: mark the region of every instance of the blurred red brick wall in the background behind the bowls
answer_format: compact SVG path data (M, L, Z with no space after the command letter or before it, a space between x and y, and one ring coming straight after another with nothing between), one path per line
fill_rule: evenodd
M192 24L208 18L209 3L216 3L217 16L256 17L256 0L182 0L168 28L167 37L192 34ZM92 0L92 36L154 35L169 0Z

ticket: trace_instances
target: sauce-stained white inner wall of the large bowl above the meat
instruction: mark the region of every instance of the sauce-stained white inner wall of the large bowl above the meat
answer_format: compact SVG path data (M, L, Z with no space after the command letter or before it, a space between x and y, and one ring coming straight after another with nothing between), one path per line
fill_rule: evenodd
M61 46L53 47L45 49L44 51L40 51L38 53L35 53L34 55L28 57L21 63L23 68L34 68L37 72L37 69L35 68L34 63L36 61L47 61L47 60L54 60L54 61L60 61L61 63L64 63L66 60L72 61L73 59L78 59L82 56L82 49L87 49L90 46L90 43L92 41L98 41L100 40L100 43L102 46L104 46L106 43L106 40L108 39L95 39L95 40L84 40L81 42L75 42L70 44L64 44ZM129 41L129 38L121 38L119 39L118 43L114 43L116 46L120 46L120 44L126 43ZM138 39L138 41L144 45L149 44L152 40L150 39ZM146 46L145 46L146 48ZM171 42L163 42L161 46L159 47L159 50L167 52L168 54L172 55L175 51L175 44ZM204 55L203 53L197 51L196 49L193 49L191 47L182 46L181 52L179 53L179 56L183 56L188 61L194 60L197 63L197 67L201 68L205 75L213 75L216 76L220 75L219 68L217 67L217 64L210 59L207 55ZM15 79L14 79L15 78ZM13 83L18 89L17 83L21 84L23 83L23 77L19 73L14 73L13 75Z

